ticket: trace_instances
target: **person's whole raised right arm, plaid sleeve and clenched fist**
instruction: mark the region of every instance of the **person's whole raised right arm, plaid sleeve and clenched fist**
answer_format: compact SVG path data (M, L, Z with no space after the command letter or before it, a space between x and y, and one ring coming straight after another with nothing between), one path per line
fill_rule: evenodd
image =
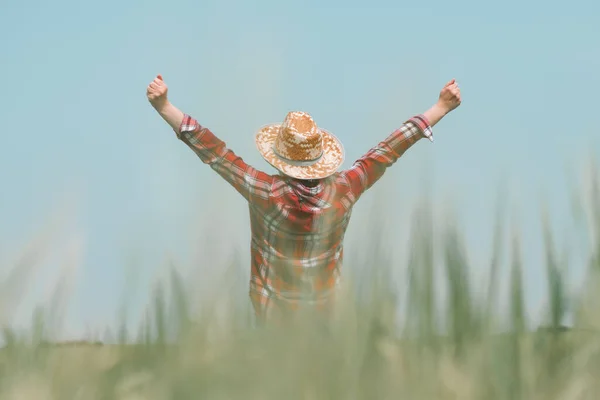
M352 167L341 173L350 185L353 202L377 182L406 150L421 140L433 141L432 127L461 103L460 89L453 79L440 92L438 101L423 114L406 121L384 141L359 158Z

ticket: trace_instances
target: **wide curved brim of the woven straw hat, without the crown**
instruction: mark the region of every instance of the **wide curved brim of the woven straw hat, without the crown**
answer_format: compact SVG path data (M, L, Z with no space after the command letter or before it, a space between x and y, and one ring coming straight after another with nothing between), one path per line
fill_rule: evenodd
M311 165L292 165L273 152L281 124L265 125L255 137L256 148L265 161L287 176L296 179L323 179L333 175L344 162L342 142L329 131L319 128L323 136L323 156Z

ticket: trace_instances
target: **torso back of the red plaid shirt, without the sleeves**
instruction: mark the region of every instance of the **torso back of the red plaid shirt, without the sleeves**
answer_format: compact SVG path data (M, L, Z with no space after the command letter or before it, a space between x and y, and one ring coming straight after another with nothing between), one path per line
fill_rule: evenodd
M272 297L286 309L329 298L343 261L351 215L343 204L350 205L350 197L336 173L314 186L276 176L268 207L249 202L255 308L264 308Z

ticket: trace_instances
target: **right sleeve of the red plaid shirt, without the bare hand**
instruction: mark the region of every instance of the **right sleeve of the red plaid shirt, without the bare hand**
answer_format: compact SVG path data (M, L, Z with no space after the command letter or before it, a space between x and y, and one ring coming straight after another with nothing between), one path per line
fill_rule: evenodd
M424 115L417 115L406 121L384 141L369 150L341 175L350 186L352 203L367 191L392 166L406 150L420 139L433 142L429 121Z

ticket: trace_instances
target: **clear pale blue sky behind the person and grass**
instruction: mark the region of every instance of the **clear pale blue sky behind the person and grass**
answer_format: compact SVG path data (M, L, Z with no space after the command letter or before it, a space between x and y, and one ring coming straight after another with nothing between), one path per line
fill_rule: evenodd
M456 78L463 105L436 126L434 144L417 144L390 170L355 218L382 193L390 240L405 243L406 205L432 186L436 205L455 206L477 264L505 180L526 243L528 301L543 306L539 201L561 240L575 241L569 190L580 161L600 152L599 17L591 0L4 1L0 265L57 209L68 216L50 234L39 283L23 289L30 300L21 317L28 321L69 262L77 278L66 329L80 332L114 320L127 260L143 266L130 276L143 299L168 254L201 271L198 286L188 281L197 291L227 260L224 239L247 254L243 201L145 99L157 73L173 103L267 170L253 133L291 109L335 132L349 166ZM207 245L210 224L220 233ZM358 227L349 237L360 238ZM197 265L207 252L214 265Z

